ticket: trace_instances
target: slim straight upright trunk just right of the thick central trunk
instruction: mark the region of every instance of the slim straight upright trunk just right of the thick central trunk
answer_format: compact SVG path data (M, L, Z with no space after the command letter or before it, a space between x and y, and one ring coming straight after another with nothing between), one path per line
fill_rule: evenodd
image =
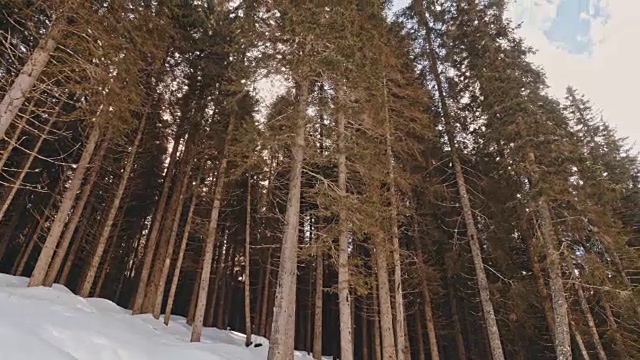
M349 294L349 224L347 210L347 155L345 150L344 114L338 115L338 205L340 235L338 237L338 305L340 309L340 360L353 360L351 295ZM402 360L402 359L400 359Z

